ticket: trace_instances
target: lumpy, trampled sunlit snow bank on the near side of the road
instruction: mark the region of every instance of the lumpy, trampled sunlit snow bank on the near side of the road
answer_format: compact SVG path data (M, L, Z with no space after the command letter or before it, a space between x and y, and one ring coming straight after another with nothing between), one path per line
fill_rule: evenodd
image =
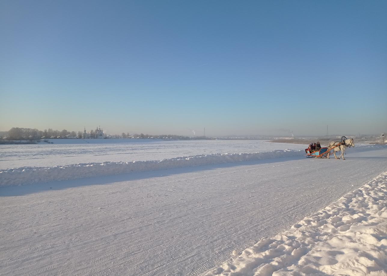
M386 193L384 172L205 275L387 275Z

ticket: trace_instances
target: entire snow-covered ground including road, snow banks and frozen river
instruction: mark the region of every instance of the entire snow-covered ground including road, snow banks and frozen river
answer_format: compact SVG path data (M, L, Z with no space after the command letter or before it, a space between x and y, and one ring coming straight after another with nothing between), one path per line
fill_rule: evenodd
M387 148L304 148L5 146L0 275L387 275Z

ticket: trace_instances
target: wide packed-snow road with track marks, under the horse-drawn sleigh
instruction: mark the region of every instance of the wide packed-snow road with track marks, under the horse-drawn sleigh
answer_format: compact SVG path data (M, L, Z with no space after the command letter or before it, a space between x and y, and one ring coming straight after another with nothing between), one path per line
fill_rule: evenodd
M198 275L387 168L275 158L0 188L0 275Z

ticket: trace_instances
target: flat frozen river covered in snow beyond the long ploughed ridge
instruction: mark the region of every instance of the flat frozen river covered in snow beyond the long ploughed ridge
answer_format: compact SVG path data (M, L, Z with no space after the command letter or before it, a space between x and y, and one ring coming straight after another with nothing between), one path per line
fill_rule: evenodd
M133 162L212 153L303 150L306 145L263 140L53 139L36 145L1 145L0 169L89 162Z

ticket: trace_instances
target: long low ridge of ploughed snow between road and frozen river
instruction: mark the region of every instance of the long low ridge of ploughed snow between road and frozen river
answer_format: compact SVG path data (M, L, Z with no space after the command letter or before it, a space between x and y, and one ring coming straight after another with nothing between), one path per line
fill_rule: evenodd
M275 150L256 153L214 153L209 155L163 159L159 161L148 160L134 162L84 163L55 167L20 167L17 169L0 170L0 186L22 185L37 182L60 181L84 177L224 164L279 157L301 157L303 155L305 155L305 152L300 150Z

